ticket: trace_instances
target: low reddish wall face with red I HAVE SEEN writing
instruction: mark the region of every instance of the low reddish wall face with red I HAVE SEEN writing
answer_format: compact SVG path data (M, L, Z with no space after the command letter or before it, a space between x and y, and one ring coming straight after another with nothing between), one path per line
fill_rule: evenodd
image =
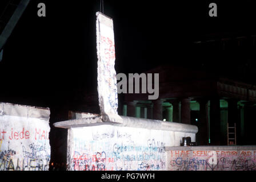
M169 170L256 171L256 151L168 151Z

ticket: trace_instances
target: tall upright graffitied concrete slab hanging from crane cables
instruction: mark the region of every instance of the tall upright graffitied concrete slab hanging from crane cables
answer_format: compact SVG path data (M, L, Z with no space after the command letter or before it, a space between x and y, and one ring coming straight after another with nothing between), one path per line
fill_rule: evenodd
M113 19L99 12L96 16L99 106L102 114L118 115Z

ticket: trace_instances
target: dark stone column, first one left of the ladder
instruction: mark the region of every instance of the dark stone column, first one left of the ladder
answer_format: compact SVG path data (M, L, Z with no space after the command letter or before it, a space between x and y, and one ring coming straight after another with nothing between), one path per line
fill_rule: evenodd
M219 145L221 136L221 118L219 98L210 100L210 144Z

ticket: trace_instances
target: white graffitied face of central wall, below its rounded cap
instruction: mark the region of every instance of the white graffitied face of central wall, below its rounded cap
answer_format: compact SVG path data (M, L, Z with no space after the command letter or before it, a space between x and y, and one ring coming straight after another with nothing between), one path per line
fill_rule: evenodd
M69 170L166 170L167 131L97 126L72 129ZM150 137L155 136L155 137Z

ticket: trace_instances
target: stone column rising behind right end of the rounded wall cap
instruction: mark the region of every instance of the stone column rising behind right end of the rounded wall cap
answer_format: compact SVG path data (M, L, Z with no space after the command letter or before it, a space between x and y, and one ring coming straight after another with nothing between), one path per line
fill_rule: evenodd
M190 119L190 99L183 98L181 100L181 123L191 124Z

